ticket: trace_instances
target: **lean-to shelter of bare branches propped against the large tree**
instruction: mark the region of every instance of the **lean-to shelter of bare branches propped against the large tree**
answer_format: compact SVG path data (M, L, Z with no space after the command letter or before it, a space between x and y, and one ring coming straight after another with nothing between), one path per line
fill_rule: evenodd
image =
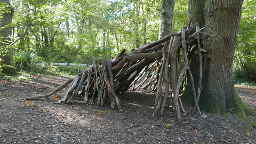
M190 79L194 86L194 80L188 65L187 45L197 44L200 47L200 39L202 37L200 30L202 29L199 29L197 26L196 33L190 34L193 29L182 27L179 33L170 34L138 49L132 49L129 54L126 54L124 49L114 60L105 59L105 61L102 61L102 65L99 65L99 61L97 65L93 59L91 66L85 68L82 73L77 74L75 78L69 79L51 93L29 97L27 100L47 98L71 83L65 97L58 103L74 103L79 95L84 97L86 103L97 103L97 105L103 106L104 100L108 96L111 108L114 109L117 106L118 110L121 110L118 93L124 93L130 88L132 90L139 90L147 89L150 86L151 90L157 91L153 115L156 115L156 111L160 108L161 103L162 115L169 85L171 85L173 108L180 121L179 107L182 108L182 103L179 99L179 91L186 70L189 71ZM183 50L185 67L178 74L181 49ZM198 52L201 54L201 52L205 51L200 47ZM202 62L202 54L199 58L201 58L200 61ZM200 65L202 66L202 63ZM202 70L200 71L202 73ZM162 96L161 91L164 84L165 95ZM196 92L195 90L193 91L195 95ZM201 91L202 86L199 86L199 92ZM163 101L161 100L162 97ZM195 95L195 101L196 108L199 111L199 115L201 115L197 104L198 99L199 94Z

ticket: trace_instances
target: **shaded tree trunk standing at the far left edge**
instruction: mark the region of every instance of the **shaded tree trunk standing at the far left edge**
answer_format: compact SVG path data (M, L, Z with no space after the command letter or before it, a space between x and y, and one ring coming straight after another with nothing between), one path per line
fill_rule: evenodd
M14 62L13 55L9 44L11 43L11 35L12 35L12 17L14 13L14 8L10 4L9 0L1 0L0 1L1 12L3 12L2 19L0 21L0 62L2 63L2 73L5 74L13 74L14 73Z

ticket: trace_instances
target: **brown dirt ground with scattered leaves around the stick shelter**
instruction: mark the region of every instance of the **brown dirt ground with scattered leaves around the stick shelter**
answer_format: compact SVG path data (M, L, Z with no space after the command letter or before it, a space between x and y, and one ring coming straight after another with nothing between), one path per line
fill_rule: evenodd
M118 94L122 111L86 105L58 105L60 98L27 97L47 94L69 77L31 76L30 81L0 81L0 143L256 143L256 117L238 119L204 114L185 107L182 121L167 103L164 116L152 116L155 92ZM242 99L256 109L256 90L236 87ZM67 89L60 91L63 97ZM53 95L54 96L54 95Z

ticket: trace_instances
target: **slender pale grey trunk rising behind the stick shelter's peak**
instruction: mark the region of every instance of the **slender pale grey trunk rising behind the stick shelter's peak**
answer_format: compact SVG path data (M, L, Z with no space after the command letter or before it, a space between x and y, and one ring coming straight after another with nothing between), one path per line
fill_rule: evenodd
M158 39L171 34L174 5L174 0L163 0L159 22Z

